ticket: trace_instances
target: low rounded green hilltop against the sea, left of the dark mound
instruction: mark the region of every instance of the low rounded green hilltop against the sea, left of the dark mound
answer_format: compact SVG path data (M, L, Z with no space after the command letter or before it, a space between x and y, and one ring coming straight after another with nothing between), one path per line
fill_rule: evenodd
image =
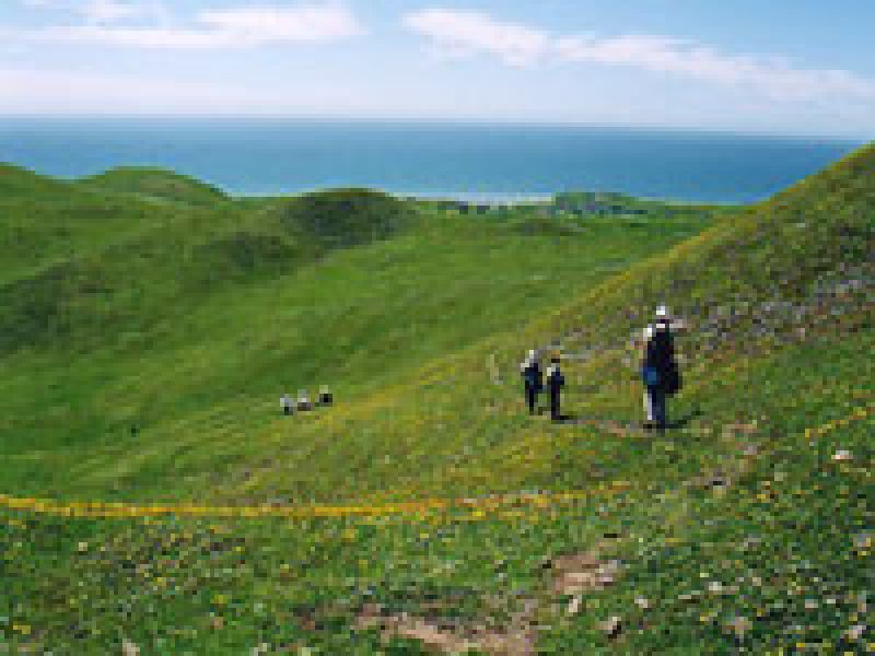
M147 166L112 168L82 178L80 185L190 204L211 204L228 200L228 195L218 187L173 171Z

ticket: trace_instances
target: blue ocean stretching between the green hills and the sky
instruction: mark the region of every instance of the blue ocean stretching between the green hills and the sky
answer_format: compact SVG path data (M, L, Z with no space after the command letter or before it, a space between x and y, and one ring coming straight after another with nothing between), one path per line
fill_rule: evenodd
M226 118L0 118L0 162L78 177L172 168L237 195L330 187L512 200L765 199L862 142L651 129Z

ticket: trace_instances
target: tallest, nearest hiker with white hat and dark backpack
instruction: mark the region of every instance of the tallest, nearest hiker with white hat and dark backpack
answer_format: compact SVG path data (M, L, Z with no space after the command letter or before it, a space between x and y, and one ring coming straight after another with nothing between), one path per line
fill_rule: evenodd
M673 319L668 308L656 309L655 321L644 329L641 347L641 379L644 383L646 430L668 427L667 398L680 389L680 371L675 360L672 330L682 330L685 324Z

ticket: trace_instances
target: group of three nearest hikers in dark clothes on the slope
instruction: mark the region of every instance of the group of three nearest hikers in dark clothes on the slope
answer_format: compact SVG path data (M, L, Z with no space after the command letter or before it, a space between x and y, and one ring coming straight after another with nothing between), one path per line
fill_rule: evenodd
M668 308L661 305L654 321L644 329L641 342L641 380L644 385L644 411L648 430L664 431L668 427L667 399L680 389L680 370L675 358L673 331L684 330L686 325L672 317ZM550 419L561 421L561 391L565 378L559 368L559 358L550 359L550 366L541 372L540 354L528 352L521 364L526 405L530 414L538 411L538 395L545 384L550 395Z

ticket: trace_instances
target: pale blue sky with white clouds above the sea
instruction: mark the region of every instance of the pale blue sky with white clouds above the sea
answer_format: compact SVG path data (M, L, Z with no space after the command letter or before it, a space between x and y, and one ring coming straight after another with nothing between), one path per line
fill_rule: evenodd
M875 138L871 0L2 0L0 114Z

